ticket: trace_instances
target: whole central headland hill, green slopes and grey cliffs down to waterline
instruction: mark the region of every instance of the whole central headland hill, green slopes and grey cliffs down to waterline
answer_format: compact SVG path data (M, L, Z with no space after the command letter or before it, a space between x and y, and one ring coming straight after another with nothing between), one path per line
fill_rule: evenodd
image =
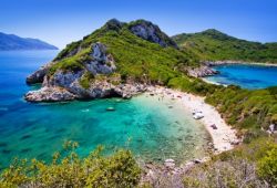
M83 40L66 45L53 62L30 75L28 83L43 81L44 87L27 94L25 98L130 97L143 90L138 84L166 84L197 62L194 56L181 52L171 38L148 21L110 20ZM134 83L137 87L133 87ZM61 87L65 91L57 90ZM61 95L48 97L54 93Z

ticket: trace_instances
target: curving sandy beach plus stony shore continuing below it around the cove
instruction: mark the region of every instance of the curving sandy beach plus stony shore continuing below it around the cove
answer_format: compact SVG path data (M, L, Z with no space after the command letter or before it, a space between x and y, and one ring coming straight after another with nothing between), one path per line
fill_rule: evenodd
M218 155L223 152L230 150L235 147L235 145L240 143L236 136L236 130L226 124L215 107L204 102L205 97L162 86L150 86L146 93L150 95L171 97L172 100L177 101L177 103L184 105L184 107L189 112L195 109L201 111L204 117L198 121L212 138L213 155ZM211 126L213 124L216 125L216 129ZM182 185L181 177L184 174L191 170L195 165L203 164L208 160L211 160L209 155L204 156L201 159L194 158L181 164L179 166L176 166L175 161L171 158L166 159L162 166L152 163L144 164L143 168L146 170L146 174L142 177L141 182L153 184L158 181L161 177L166 177L175 179L176 185Z

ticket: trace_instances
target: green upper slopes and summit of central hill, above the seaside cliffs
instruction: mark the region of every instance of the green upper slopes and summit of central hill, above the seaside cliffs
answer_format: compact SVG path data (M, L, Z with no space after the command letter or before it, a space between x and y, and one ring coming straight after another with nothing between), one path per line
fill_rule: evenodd
M132 30L135 30L133 27L137 25L142 25L143 29L153 29L153 31L142 31L141 35L136 35ZM143 32L153 32L154 36L143 36ZM101 42L107 48L116 62L116 72L123 77L142 80L142 75L144 75L144 81L167 83L170 79L179 74L174 71L176 67L197 63L192 55L178 51L175 42L148 21L137 20L122 23L117 20L110 20L101 29L84 36L83 40L69 44L55 58L55 61L59 61L55 67L63 66L62 64L70 60L90 54L91 45L96 42ZM72 55L72 52L78 53ZM52 72L55 71L54 69Z

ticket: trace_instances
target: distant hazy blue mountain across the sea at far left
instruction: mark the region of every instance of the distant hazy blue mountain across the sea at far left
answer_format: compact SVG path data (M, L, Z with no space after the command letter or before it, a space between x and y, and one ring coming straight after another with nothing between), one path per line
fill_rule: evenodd
M58 48L39 39L20 38L0 32L0 51L8 50L58 50Z

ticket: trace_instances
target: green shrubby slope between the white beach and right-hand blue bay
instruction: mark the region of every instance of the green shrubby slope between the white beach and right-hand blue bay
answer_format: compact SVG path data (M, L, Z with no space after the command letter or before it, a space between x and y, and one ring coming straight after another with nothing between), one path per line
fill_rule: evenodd
M240 129L245 140L277 124L277 87L259 91L223 87L207 95L206 102L216 106L228 124Z

